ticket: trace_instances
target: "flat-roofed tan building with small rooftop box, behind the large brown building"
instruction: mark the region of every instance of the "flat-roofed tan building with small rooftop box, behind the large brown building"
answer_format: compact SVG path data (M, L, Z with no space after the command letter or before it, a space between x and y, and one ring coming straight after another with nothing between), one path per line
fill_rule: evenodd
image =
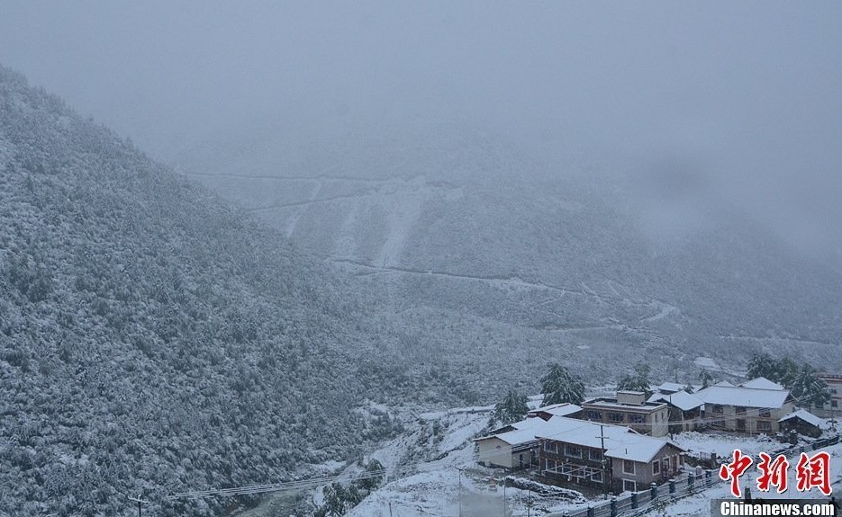
M628 425L650 436L665 436L669 410L664 402L647 402L642 391L618 391L617 397L597 397L584 401L580 418L590 422Z

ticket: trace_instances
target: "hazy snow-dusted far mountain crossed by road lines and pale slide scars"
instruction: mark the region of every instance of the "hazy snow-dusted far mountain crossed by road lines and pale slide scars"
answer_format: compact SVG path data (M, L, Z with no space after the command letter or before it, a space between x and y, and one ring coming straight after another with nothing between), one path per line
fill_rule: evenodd
M771 346L819 365L842 341L838 272L794 253L738 208L684 206L656 172L643 185L621 174L618 182L573 160L542 162L467 126L418 120L366 135L335 129L310 144L243 140L236 157L220 150L200 179L390 293L379 297L386 311L426 306L498 320L534 351L629 340L689 368L698 353L733 361L734 343L737 360ZM179 158L188 173L189 156ZM287 188L305 182L322 187ZM675 196L674 211L647 214L665 194ZM276 195L284 201L267 202Z

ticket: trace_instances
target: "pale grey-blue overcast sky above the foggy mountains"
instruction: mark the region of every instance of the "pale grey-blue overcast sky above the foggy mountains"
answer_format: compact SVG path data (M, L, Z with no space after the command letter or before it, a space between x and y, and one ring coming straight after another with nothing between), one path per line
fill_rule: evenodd
M253 120L433 112L675 173L842 257L836 1L0 0L0 63L164 160Z

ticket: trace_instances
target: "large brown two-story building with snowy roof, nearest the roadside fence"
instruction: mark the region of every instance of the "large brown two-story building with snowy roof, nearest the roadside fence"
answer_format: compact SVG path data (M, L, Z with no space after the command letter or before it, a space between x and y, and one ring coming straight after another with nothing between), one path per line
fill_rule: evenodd
M678 474L684 450L628 427L557 418L539 429L541 474L561 484L638 491Z

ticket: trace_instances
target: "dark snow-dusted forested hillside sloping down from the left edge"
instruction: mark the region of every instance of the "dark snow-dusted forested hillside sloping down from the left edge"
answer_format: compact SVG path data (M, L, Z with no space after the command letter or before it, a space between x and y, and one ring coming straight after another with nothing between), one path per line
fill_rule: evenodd
M345 289L0 68L0 515L213 515L160 496L354 458L394 432L367 398L446 400Z

